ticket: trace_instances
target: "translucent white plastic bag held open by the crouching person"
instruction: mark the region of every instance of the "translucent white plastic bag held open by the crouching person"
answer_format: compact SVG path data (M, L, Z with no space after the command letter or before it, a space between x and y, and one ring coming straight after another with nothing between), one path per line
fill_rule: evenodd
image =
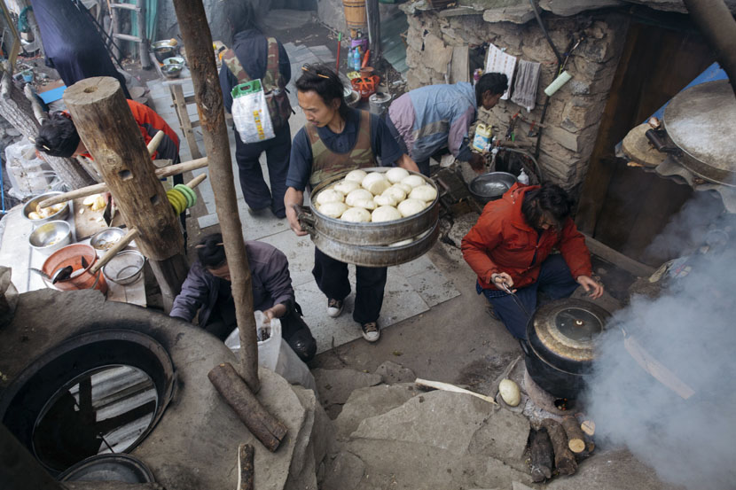
M264 315L261 311L255 311L254 316L256 336L259 339L258 365L276 372L292 385L301 385L317 393L317 384L309 368L281 337L281 321L274 318L270 323L263 323ZM225 346L239 354L238 329L231 331L225 339Z

